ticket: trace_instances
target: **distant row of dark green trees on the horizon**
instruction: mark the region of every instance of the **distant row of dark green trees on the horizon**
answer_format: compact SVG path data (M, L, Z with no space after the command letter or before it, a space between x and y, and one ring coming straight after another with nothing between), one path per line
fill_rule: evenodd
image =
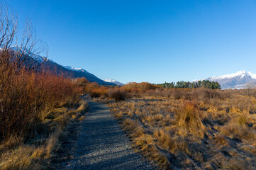
M157 84L159 86L169 88L169 89L194 89L194 88L199 88L199 87L204 87L206 89L221 89L221 85L218 84L217 81L208 81L208 80L203 80L203 81L194 81L194 82L189 82L189 81L177 81L171 82L171 83L163 83L163 84Z

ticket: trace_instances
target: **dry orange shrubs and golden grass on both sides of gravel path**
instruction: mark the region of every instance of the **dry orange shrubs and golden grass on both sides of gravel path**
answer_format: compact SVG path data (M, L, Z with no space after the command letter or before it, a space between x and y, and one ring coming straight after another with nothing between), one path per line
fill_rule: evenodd
M48 169L69 120L84 118L82 93L107 103L138 152L162 169L255 169L253 89L106 87L35 72L24 65L34 53L32 29L11 51L16 18L0 11L0 169Z

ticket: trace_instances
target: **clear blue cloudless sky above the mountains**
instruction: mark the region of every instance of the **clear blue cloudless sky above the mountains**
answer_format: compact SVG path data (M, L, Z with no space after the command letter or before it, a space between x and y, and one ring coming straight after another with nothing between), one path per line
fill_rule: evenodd
M191 81L256 73L256 1L9 0L48 57L101 79Z

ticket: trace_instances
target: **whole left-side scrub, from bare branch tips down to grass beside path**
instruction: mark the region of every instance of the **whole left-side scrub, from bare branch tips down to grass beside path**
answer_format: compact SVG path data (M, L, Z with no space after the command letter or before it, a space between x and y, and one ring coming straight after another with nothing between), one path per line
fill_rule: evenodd
M54 169L60 139L88 104L77 80L39 67L45 49L33 26L18 30L2 2L0 21L0 169Z

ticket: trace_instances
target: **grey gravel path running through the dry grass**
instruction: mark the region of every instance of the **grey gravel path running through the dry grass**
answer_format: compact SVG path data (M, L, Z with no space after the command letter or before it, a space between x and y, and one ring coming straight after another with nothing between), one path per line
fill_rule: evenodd
M67 169L154 169L140 154L133 152L130 141L108 107L89 101L77 141L77 152Z

